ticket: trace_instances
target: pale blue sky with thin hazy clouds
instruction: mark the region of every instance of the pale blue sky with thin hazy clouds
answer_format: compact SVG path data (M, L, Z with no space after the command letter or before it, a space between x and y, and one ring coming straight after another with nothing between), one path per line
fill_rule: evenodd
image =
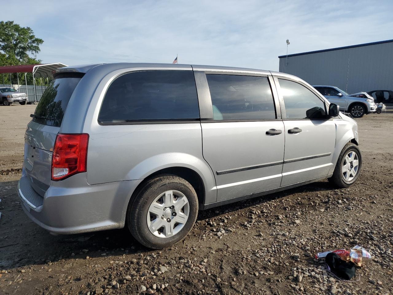
M278 70L278 55L393 39L393 1L26 1L7 14L44 63L179 63ZM3 17L4 18L4 17Z

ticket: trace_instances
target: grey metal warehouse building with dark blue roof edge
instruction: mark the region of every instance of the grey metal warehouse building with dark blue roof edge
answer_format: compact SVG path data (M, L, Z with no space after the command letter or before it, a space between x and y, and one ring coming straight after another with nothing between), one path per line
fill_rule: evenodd
M393 40L279 56L280 72L348 93L393 90Z

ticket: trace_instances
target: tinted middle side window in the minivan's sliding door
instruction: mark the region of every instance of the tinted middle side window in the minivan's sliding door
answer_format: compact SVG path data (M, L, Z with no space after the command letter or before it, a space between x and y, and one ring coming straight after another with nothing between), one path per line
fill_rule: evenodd
M275 119L275 107L267 77L206 74L213 120Z

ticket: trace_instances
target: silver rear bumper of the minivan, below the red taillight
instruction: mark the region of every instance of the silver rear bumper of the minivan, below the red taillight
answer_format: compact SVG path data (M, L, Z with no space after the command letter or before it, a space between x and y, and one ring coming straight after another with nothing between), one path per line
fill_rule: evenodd
M141 180L89 185L86 173L51 182L44 197L18 183L22 208L31 220L50 232L74 234L124 227L130 196ZM34 194L35 193L35 194ZM42 198L42 203L32 199ZM38 206L37 206L38 205Z

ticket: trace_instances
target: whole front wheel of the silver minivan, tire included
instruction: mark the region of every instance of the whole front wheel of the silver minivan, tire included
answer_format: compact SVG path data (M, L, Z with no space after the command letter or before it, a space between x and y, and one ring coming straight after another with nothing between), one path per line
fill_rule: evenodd
M329 181L339 188L347 188L356 182L362 169L362 155L358 147L348 142L338 157L336 168Z

